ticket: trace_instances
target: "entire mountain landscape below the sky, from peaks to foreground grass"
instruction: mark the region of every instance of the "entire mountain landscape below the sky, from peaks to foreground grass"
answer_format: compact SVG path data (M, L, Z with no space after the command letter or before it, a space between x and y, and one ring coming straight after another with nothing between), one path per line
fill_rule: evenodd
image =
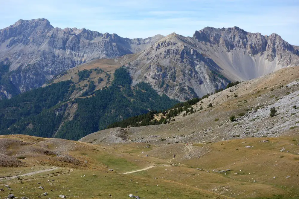
M298 55L239 27L19 20L0 30L0 198L298 199Z

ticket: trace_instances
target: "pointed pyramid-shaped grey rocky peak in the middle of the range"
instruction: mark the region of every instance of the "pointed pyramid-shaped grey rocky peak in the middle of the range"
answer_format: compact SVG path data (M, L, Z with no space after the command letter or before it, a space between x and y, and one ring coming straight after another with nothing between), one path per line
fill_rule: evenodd
M161 39L131 62L133 84L149 82L159 94L180 101L224 88L229 80L195 45L191 38L176 33Z

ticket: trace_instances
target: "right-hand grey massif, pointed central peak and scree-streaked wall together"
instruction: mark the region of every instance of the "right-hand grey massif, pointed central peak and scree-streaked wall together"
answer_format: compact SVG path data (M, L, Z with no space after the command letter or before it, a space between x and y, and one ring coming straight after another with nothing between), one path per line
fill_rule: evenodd
M184 101L224 88L228 79L254 79L299 65L298 55L298 47L277 34L206 27L193 37L165 36L131 62L131 74L134 83L149 82L159 94Z

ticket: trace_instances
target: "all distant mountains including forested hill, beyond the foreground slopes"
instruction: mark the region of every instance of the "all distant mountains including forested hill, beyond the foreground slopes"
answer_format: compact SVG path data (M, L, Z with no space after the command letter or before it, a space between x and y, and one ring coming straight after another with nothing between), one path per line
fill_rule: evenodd
M0 30L0 132L78 140L299 65L298 55L275 33L239 27L128 39L19 20Z

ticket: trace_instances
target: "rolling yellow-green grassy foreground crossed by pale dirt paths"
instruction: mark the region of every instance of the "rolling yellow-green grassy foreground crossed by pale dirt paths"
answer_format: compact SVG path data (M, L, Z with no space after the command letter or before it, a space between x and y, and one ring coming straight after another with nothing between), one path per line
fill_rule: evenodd
M0 136L0 159L5 160L0 161L0 196L298 198L298 139L288 135L186 146Z

